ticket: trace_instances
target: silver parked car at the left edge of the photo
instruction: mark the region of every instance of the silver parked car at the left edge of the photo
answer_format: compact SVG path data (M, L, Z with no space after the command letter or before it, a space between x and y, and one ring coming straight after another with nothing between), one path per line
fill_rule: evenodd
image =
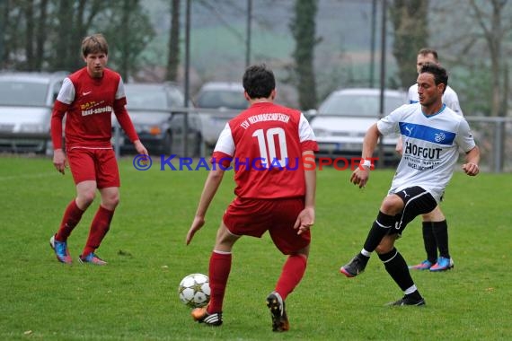
M51 110L67 74L0 74L1 151L50 153Z

